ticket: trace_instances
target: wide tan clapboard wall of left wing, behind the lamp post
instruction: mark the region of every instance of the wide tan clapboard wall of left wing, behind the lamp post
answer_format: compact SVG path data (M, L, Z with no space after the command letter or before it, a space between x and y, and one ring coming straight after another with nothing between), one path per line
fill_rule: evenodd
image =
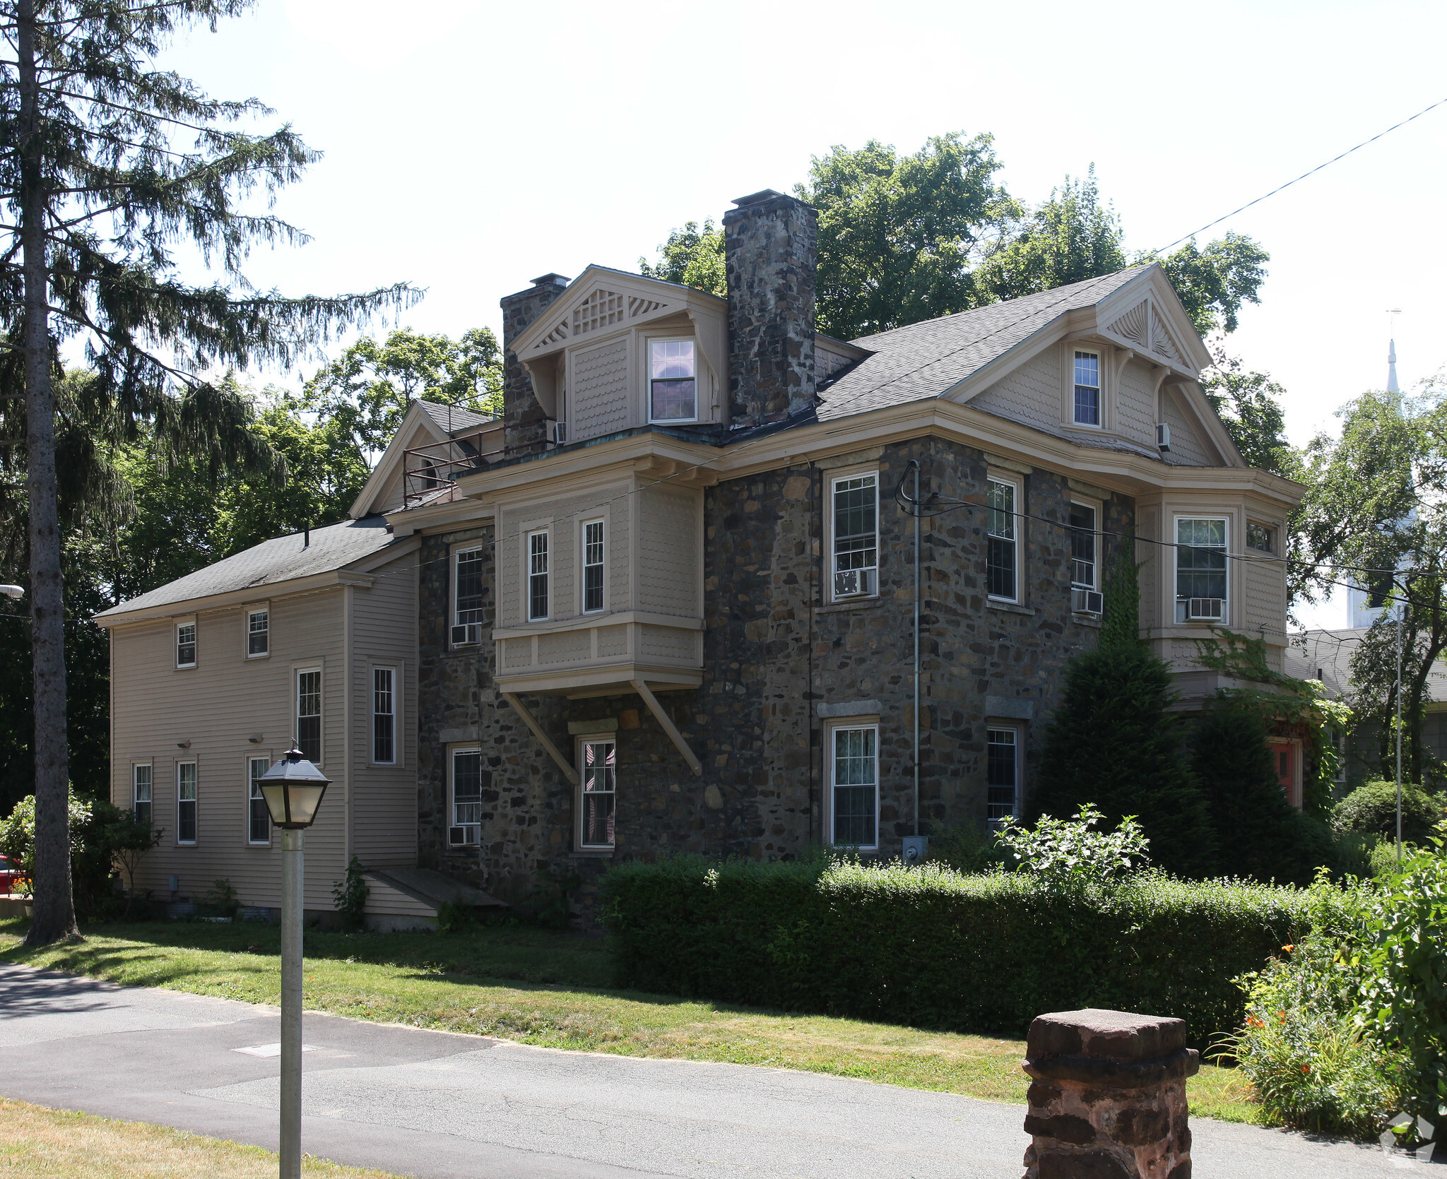
M279 904L281 836L271 848L246 842L246 761L275 759L292 736L292 676L298 665L323 668L323 765L337 784L307 833L307 907L331 908L331 885L343 871L343 593L328 589L271 602L271 654L247 660L242 608L197 615L197 667L175 668L174 622L113 629L114 706L111 796L130 803L130 765L152 761L153 814L165 829L136 877L136 887L168 897L168 877L192 900L224 878L240 901ZM258 602L266 600L265 593ZM259 744L247 738L260 733ZM187 749L177 745L190 741ZM175 765L197 762L197 843L175 843Z

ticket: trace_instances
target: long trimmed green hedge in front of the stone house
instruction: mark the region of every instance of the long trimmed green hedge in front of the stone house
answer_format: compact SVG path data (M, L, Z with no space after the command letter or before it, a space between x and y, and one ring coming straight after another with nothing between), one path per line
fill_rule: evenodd
M1233 1031L1260 969L1307 929L1297 888L1146 874L1094 894L926 864L622 864L603 880L619 985L952 1031L1043 1011L1178 1016Z

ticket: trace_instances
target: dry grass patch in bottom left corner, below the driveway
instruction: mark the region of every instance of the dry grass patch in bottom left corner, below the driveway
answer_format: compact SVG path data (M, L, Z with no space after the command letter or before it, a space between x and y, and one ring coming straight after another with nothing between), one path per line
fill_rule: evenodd
M46 1179L271 1179L276 1156L184 1130L46 1110L0 1098L0 1173ZM310 1156L305 1179L395 1179Z

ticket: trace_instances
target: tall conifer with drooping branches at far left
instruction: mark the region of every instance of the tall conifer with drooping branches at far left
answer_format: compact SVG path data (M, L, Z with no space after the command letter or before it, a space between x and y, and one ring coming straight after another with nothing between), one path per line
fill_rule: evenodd
M0 195L10 242L0 272L6 349L0 395L25 404L33 652L36 872L27 943L75 935L67 836L64 584L56 496L55 380L62 344L90 357L91 392L119 434L142 422L218 463L272 466L246 405L207 379L255 360L291 365L337 327L410 288L336 298L258 295L240 273L253 243L305 240L237 201L273 195L317 155L291 127L232 130L271 114L218 101L158 69L182 29L237 16L252 0L0 0L16 56L0 61ZM177 247L220 265L187 284ZM19 265L16 263L19 259Z

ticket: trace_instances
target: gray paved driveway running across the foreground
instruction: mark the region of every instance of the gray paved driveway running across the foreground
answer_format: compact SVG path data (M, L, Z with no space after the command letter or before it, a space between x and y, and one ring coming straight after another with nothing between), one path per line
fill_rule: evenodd
M0 1094L276 1146L275 1010L0 963ZM302 1149L425 1179L1017 1179L1024 1107L307 1014ZM1200 1120L1195 1179L1367 1179L1373 1147ZM1422 1169L1411 1165L1411 1169ZM1430 1172L1424 1170L1424 1175Z

